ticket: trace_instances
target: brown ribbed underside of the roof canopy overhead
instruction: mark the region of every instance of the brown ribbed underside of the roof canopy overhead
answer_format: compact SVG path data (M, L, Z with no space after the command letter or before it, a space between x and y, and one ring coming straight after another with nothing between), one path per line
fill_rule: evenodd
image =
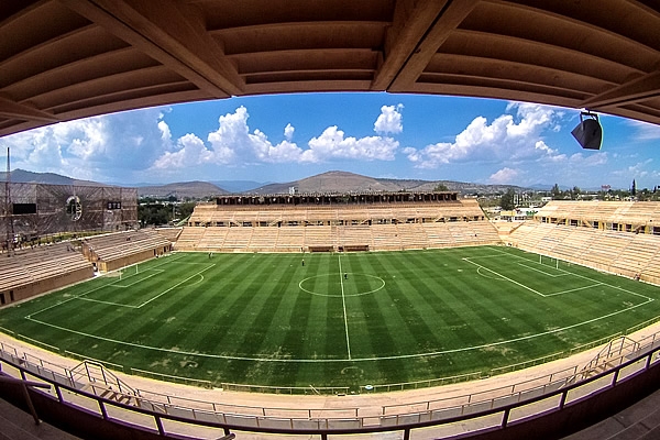
M660 123L660 0L0 3L0 135L231 96L389 91Z

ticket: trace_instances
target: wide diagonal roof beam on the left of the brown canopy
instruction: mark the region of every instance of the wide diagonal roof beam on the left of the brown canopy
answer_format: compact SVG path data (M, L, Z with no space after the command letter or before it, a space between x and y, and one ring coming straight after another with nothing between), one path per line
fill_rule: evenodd
M157 8L138 0L61 1L211 97L242 94L242 79L193 7L173 0L160 0Z

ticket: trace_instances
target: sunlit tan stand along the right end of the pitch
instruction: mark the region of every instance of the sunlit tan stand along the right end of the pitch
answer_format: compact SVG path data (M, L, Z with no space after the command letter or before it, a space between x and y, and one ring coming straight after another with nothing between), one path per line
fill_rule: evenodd
M660 204L551 201L508 240L600 271L660 284Z

